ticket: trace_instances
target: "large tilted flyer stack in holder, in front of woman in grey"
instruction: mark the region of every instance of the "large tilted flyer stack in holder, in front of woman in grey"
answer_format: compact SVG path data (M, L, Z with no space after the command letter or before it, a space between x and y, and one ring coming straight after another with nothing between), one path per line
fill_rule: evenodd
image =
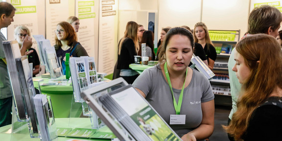
M105 90L107 94L100 94ZM81 95L120 141L181 141L123 78L83 91Z

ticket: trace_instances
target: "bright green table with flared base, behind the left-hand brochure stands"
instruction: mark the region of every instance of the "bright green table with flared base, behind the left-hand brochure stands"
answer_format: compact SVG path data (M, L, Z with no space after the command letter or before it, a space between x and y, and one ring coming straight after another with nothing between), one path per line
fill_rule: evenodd
M38 79L44 79L41 82L33 81L33 85L35 88L39 89L38 83L48 83L50 79L34 77ZM58 79L66 79L66 76L62 76ZM78 118L82 113L81 103L74 102L73 98L73 89L71 82L69 82L66 86L40 86L41 94L50 95L53 113L55 118Z

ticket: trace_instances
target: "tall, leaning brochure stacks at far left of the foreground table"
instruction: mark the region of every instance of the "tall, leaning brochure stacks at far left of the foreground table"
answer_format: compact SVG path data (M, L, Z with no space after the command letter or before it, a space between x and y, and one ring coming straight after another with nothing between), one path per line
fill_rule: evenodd
M7 60L17 118L19 121L28 122L31 137L36 137L39 133L33 101L36 93L27 56L21 55L17 41L4 41L2 44Z

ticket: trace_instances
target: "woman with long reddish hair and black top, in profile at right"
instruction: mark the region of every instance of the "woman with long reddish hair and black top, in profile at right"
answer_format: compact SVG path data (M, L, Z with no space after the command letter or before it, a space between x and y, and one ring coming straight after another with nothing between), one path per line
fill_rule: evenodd
M254 34L235 49L232 70L242 88L237 111L224 128L235 141L280 141L282 61L277 60L282 60L281 46L270 35Z

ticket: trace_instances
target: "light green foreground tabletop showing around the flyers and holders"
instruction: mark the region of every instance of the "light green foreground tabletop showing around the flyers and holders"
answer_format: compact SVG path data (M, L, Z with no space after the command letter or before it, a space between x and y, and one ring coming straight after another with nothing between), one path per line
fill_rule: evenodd
M56 126L62 128L89 128L91 129L90 118L56 118ZM100 131L110 131L107 126L99 129ZM21 133L11 134L11 124L0 127L1 141L40 141L39 138L30 138L29 132L26 128L23 128ZM12 140L11 140L12 139ZM110 139L86 139L86 138L71 138L71 137L59 137L58 141L68 141L70 139L87 140L87 141L111 141Z

